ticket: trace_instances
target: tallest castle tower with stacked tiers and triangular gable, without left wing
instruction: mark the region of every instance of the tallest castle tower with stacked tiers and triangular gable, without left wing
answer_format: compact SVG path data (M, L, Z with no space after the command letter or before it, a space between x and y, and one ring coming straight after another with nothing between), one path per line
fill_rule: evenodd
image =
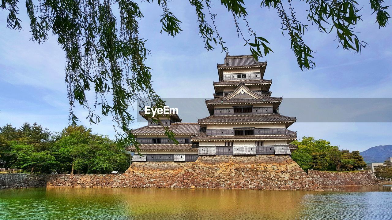
M206 132L192 137L199 155L290 154L296 132L287 128L296 118L279 114L282 98L271 97L266 67L252 55L226 56L218 64L214 99L205 101L211 116L198 120Z

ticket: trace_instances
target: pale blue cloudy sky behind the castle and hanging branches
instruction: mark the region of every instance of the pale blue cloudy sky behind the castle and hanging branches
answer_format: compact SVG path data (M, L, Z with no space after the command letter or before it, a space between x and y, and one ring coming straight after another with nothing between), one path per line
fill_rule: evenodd
M245 1L250 26L270 42L274 51L261 60L268 62L264 78L273 79L272 96L283 96L283 102L285 98L392 98L392 29L390 26L379 29L376 15L371 13L368 2L364 2L360 12L363 20L355 30L360 40L369 45L360 54L345 51L338 47L334 32L325 34L310 26L304 39L316 51L317 67L302 71L290 49L289 37L281 34L276 11L260 8L257 1ZM146 63L152 68L152 85L156 92L163 98L212 98L212 82L218 81L216 64L223 63L225 53L219 48L205 50L194 8L188 1L169 2L170 11L181 20L183 30L172 38L160 34L162 11L158 5L142 1L139 5L144 14L140 20L140 36L147 39L146 46L151 50ZM303 1L296 2L294 7L298 20L309 24ZM230 55L249 54L249 48L243 47L243 40L237 36L227 9L217 3L212 11L218 14L218 31ZM41 45L30 40L24 4L20 4L19 14L22 31L7 29L6 16L5 11L0 13L0 126L20 127L27 121L37 122L51 131L61 131L68 124L64 52L55 36ZM367 108L366 105L364 101L363 108ZM344 111L344 107L341 109ZM87 117L87 112L80 107L75 113L79 118ZM285 115L285 109L280 109L280 113ZM86 120L80 123L90 126ZM146 124L142 121L132 126L138 128ZM91 128L94 133L114 138L111 118L104 118ZM297 131L299 139L312 136L348 150L363 151L392 144L392 123L297 122L289 129Z

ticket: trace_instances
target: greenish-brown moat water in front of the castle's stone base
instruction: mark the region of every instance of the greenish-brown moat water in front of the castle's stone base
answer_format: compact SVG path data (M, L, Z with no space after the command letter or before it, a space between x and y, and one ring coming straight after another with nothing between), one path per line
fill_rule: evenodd
M392 186L325 190L6 189L0 220L392 219Z

